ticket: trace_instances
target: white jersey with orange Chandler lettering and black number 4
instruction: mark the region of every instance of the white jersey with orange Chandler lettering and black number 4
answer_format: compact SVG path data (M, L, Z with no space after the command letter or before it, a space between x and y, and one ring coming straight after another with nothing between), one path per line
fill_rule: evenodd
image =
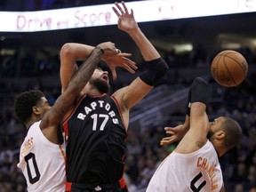
M175 150L159 165L147 192L219 192L223 184L218 155L207 140L191 154Z

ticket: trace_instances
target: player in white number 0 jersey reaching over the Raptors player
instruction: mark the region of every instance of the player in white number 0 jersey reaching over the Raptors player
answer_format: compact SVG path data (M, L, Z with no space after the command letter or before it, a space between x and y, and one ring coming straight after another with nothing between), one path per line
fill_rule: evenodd
M64 142L60 145L57 133L60 121L92 76L103 52L118 53L115 44L110 42L96 46L52 108L40 91L22 92L16 98L15 114L27 128L27 136L20 148L18 167L27 180L28 191L65 191Z

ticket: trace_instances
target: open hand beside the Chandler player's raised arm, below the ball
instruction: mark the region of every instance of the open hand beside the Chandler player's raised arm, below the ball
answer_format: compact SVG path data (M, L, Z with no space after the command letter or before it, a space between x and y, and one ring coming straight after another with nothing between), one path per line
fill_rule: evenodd
M166 134L171 134L170 137L165 137L160 141L160 145L169 145L173 142L181 140L183 136L186 134L187 130L184 129L183 124L180 124L176 127L164 127Z

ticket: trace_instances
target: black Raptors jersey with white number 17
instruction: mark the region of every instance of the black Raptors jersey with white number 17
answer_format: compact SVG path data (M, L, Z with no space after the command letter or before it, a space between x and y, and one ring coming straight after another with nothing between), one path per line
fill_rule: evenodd
M62 124L67 144L68 182L116 182L124 172L124 122L114 97L84 95Z

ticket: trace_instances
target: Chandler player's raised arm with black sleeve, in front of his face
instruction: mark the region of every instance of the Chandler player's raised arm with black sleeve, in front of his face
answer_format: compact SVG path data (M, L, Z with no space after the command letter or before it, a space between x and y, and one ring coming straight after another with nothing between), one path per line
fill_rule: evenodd
M210 123L206 114L208 84L201 77L196 77L190 87L190 128L175 149L180 153L191 153L202 148L207 141Z

